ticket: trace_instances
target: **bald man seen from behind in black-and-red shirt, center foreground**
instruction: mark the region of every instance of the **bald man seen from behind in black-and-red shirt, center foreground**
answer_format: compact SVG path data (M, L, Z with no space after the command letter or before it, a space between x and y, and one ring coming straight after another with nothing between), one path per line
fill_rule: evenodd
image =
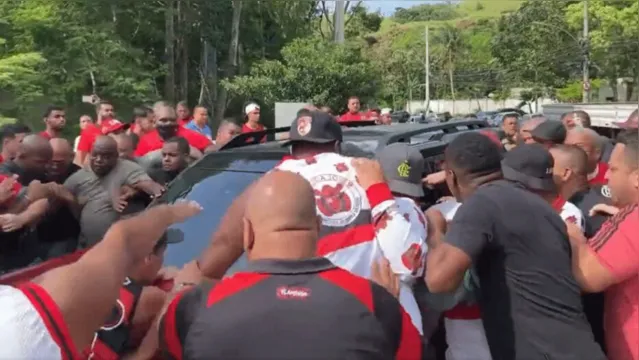
M316 257L321 219L313 193L303 177L285 171L248 190L251 206L242 219L248 268L214 285L187 285L161 320L163 353L172 359L421 358L419 334L389 292ZM360 293L365 302L353 296Z

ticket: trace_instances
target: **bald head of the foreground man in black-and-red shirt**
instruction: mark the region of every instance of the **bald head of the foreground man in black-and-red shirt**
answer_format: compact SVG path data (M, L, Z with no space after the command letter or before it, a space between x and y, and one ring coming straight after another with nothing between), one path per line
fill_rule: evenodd
M319 221L311 185L301 176L275 171L251 188L244 215L244 246L250 259L313 256Z

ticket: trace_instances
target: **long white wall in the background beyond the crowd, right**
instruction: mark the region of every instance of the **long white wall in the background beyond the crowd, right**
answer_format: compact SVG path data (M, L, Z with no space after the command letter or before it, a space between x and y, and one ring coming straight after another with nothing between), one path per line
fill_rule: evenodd
M463 99L463 100L431 100L430 110L435 113L449 112L451 114L470 114L481 109L482 111L491 111L501 108L517 107L521 103L519 99L507 99L505 101L494 101L489 98L484 99ZM539 99L537 101L537 108L535 103L531 103L532 113L540 113L541 106L545 104L554 104L555 101L551 99ZM426 105L424 101L411 101L406 104L406 111L415 112L417 110L425 109ZM530 112L528 106L522 107L522 110Z

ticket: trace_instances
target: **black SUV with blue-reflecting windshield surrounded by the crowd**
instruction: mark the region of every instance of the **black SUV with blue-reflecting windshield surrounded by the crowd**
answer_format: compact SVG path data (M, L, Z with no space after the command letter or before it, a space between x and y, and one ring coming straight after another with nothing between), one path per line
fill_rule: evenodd
M344 128L342 153L354 157L373 157L377 150L386 145L406 142L419 149L427 162L426 172L432 173L439 170L444 149L453 137L488 127L486 122L479 120L388 126L362 126L361 123L355 123ZM238 135L220 151L207 154L190 166L169 185L166 193L158 199L159 202L171 203L186 198L196 200L204 210L170 229L168 236L171 244L164 259L166 266L181 267L202 253L233 200L288 154L288 149L282 147L281 141L259 141L264 136L274 138L276 133L288 130L276 128ZM427 191L424 205L434 203L446 191ZM244 263L240 259L231 272L240 270Z

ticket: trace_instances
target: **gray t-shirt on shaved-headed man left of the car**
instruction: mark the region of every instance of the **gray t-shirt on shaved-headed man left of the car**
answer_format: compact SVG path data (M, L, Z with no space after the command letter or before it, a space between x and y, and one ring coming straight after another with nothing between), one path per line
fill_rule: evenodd
M86 199L80 213L80 245L91 246L102 240L111 224L120 219L113 208L113 198L123 185L151 180L140 165L118 160L109 174L98 177L89 169L78 170L64 182L64 187L77 198Z

